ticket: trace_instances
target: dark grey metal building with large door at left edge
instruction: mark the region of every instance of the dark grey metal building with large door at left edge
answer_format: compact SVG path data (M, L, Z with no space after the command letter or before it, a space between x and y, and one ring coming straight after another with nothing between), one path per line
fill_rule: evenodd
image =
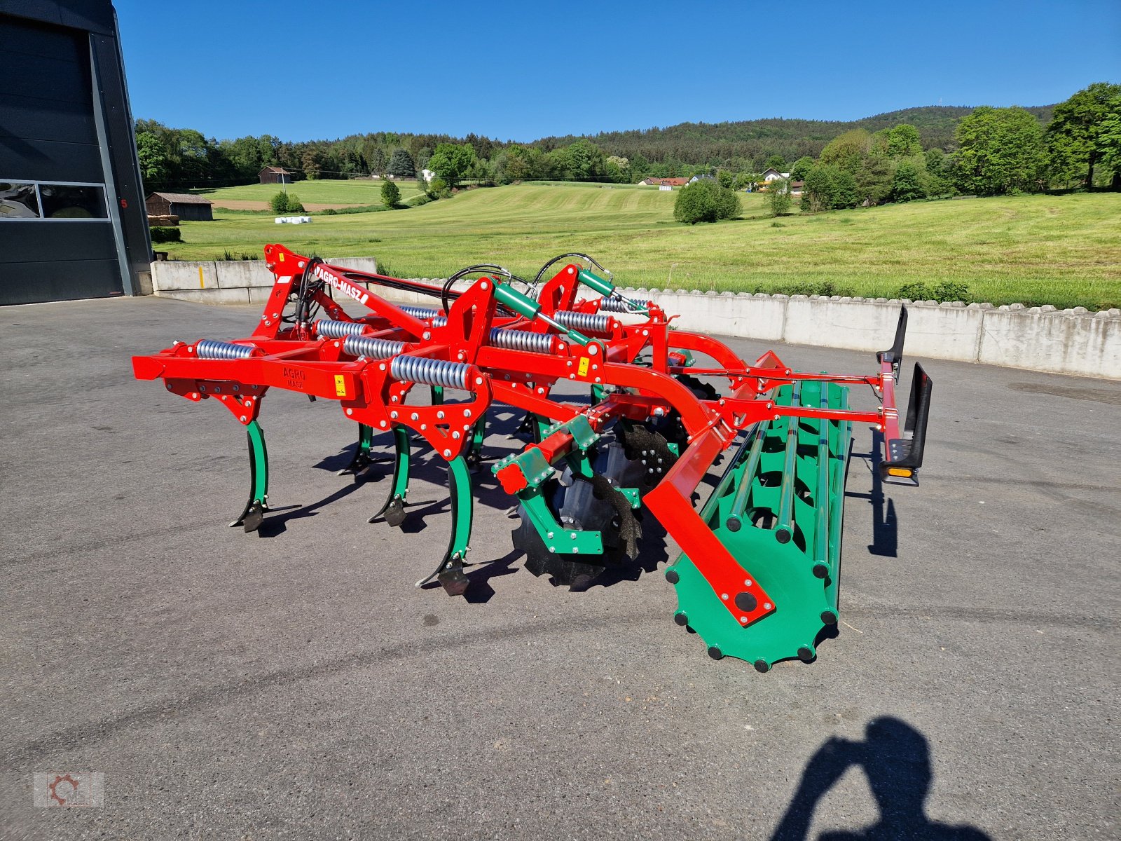
M0 304L136 295L151 244L109 0L0 0Z

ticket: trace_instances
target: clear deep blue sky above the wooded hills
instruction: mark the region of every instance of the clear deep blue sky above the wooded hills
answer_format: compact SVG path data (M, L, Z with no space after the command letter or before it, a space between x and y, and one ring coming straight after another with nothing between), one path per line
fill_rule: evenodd
M1121 2L115 0L138 118L232 138L502 140L1121 82Z

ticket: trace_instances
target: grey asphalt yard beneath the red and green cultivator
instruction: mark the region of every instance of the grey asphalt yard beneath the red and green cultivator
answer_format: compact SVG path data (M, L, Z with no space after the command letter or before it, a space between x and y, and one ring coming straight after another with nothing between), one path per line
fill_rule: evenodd
M929 360L921 487L879 486L854 431L840 634L758 674L671 621L652 526L634 581L530 575L489 471L492 563L466 599L416 589L442 462L418 454L402 529L368 524L387 441L337 477L355 429L330 401L269 394L275 510L228 528L243 429L130 355L257 317L0 308L0 838L1119 837L1121 382ZM101 773L104 805L35 807L37 771Z

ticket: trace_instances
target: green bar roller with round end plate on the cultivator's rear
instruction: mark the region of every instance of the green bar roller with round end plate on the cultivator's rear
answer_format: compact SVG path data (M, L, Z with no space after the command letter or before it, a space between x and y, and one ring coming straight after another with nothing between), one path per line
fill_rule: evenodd
M805 381L780 388L776 403L846 408L847 390ZM702 509L745 580L775 604L744 627L683 553L666 573L677 590L675 621L701 635L713 657L739 657L761 672L789 657L810 660L823 626L837 621L849 426L794 417L757 425Z

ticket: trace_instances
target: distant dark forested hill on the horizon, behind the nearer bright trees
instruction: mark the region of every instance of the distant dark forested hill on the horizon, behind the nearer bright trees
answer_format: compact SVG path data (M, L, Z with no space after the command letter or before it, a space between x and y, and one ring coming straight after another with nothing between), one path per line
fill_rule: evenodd
M1027 108L1041 123L1051 118L1054 105ZM803 156L817 157L825 144L850 129L878 131L901 122L919 131L924 148L953 147L957 122L973 111L963 105L926 105L889 111L861 120L797 120L772 118L738 122L682 122L667 128L633 131L602 131L586 136L608 155L624 158L641 156L648 160L680 160L701 164L731 158L766 158L781 155L787 160ZM534 146L556 148L567 146L578 136L547 137Z

